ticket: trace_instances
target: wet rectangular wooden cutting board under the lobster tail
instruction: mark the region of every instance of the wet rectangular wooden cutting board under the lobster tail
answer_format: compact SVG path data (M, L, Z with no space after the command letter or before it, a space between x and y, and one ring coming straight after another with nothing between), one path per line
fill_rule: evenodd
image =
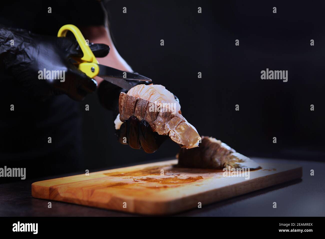
M249 179L224 177L222 170L177 168L176 164L175 159L94 172L88 176L81 174L34 182L32 196L124 212L163 215L198 208L200 203L204 207L302 177L301 166L272 162L260 164L262 169L250 171Z

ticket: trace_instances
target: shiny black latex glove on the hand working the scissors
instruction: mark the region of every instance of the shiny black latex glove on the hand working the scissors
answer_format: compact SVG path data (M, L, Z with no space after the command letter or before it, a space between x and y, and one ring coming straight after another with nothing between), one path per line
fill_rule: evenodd
M11 45L11 39L14 45ZM89 44L96 57L104 57L110 47ZM72 57L83 53L75 39L33 34L22 29L0 27L0 64L4 64L33 98L44 100L53 95L67 94L74 100L83 100L96 90L97 82L72 64ZM64 80L39 79L39 71L64 71ZM46 77L47 78L47 77Z

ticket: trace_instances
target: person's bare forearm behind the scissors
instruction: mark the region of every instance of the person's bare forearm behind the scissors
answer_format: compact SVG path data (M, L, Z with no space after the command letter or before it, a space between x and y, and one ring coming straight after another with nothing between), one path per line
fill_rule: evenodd
M122 71L133 72L132 68L125 62L125 60L117 52L109 31L104 26L93 26L82 29L85 39L93 43L104 43L110 46L110 53L103 58L98 58L100 64L107 65ZM103 80L100 77L95 78L98 85Z

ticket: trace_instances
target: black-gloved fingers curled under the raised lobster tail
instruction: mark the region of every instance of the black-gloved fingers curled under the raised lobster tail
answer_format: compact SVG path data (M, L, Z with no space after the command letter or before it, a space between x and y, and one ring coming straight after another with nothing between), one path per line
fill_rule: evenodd
M160 145L168 139L168 136L152 132L149 123L139 121L136 116L131 116L116 131L118 141L128 144L133 149L143 149L146 153L154 153Z

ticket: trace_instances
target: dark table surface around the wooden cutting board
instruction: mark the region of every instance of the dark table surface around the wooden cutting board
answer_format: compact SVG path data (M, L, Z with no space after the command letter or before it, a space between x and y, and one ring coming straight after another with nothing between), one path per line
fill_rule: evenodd
M274 161L303 166L303 177L218 203L202 205L202 208L175 216L325 216L324 162L252 159L256 162ZM315 176L310 175L311 169L315 171ZM33 182L75 174L0 184L0 216L136 216L32 197ZM47 207L48 202L52 202L52 208ZM277 208L272 207L273 202L277 202Z

